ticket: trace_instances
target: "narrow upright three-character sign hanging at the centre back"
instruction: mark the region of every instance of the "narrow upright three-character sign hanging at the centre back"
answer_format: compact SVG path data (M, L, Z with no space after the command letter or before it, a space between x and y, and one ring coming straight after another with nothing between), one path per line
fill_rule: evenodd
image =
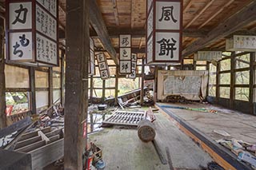
M131 73L131 35L119 35L119 73Z

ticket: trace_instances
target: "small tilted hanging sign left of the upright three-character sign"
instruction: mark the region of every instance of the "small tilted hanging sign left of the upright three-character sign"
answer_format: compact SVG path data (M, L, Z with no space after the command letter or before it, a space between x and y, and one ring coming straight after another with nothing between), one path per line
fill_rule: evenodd
M105 54L98 53L96 55L96 59L98 61L98 70L102 80L106 80L110 78L110 69L109 69L109 65L107 65Z

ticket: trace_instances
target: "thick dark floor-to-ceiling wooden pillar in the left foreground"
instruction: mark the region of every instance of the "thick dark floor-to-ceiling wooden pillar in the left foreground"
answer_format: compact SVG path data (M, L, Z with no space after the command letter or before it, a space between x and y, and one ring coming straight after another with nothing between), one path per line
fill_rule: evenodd
M88 61L90 58L89 0L66 0L66 93L64 168L82 170L86 148Z

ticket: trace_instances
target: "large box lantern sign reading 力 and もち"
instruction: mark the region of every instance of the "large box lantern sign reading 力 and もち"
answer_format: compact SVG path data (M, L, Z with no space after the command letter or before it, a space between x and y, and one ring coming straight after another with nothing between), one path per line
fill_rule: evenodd
M58 0L6 0L7 61L58 66Z

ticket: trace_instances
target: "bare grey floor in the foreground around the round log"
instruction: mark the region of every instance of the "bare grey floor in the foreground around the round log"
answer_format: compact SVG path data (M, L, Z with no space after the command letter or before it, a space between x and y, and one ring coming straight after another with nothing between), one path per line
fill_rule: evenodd
M168 161L166 150L175 169L201 169L212 161L186 134L180 131L162 113L154 121L156 143ZM162 164L152 142L139 140L136 129L104 128L102 132L90 135L90 140L102 148L105 169L164 170L170 164Z

